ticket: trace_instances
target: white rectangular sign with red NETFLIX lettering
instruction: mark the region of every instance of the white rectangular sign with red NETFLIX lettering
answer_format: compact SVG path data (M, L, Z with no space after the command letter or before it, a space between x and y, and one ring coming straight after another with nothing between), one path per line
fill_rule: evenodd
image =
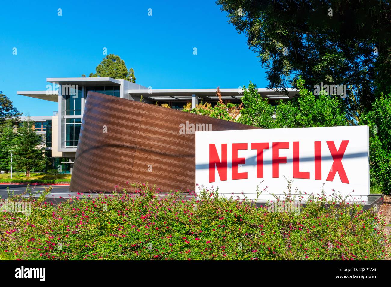
M195 133L195 182L219 194L258 200L291 193L367 201L369 128L321 127ZM197 189L196 189L197 190Z

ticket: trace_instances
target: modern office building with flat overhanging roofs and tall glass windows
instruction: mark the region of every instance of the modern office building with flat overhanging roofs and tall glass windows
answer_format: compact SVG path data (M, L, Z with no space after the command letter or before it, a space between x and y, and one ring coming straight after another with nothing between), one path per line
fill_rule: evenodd
M63 173L71 173L83 118L84 105L88 91L107 94L127 100L150 104L169 104L172 109L183 109L200 102L212 105L219 100L216 88L212 89L152 89L122 79L100 78L47 78L45 91L18 91L17 94L58 103L58 112L53 116L33 117L36 131L45 134L48 156L52 157L53 168L63 166ZM241 103L242 89L220 89L222 100L226 103ZM258 89L264 98L275 102L294 97L298 91L288 89L287 94L269 89ZM99 111L100 107L96 107Z

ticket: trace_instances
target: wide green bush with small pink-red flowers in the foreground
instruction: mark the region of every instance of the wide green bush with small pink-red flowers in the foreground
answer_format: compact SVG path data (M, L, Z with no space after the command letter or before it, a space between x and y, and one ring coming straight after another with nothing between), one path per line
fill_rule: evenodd
M269 212L218 189L198 198L134 185L135 193L100 194L31 213L2 212L0 259L52 260L362 260L389 256L381 215L344 201L312 198L300 214ZM47 189L45 193L48 193ZM194 193L192 193L194 195ZM8 201L25 200L11 196ZM4 200L3 200L4 201ZM283 201L282 201L283 202ZM288 201L287 201L288 202ZM287 203L285 202L285 203ZM330 206L326 207L326 203Z

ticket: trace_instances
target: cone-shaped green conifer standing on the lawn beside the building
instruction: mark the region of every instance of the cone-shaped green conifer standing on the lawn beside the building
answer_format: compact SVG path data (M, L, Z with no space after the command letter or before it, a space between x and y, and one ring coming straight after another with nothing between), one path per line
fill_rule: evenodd
M41 146L42 138L34 131L34 121L28 116L18 128L18 136L15 139L15 167L26 171L26 176L30 176L30 171L43 169L45 167L44 148Z

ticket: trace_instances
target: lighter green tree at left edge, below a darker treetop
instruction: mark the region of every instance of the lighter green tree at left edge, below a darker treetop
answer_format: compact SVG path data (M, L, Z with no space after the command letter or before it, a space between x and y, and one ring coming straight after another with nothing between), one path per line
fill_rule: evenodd
M16 133L11 121L7 121L0 134L0 170L8 172L11 169L11 150L13 150Z

